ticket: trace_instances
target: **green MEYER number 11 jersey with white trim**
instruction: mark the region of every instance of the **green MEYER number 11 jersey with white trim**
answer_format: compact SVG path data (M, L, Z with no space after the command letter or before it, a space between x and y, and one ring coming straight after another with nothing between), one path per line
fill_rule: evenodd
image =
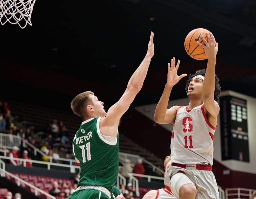
M73 152L80 161L80 180L77 186L93 185L107 188L111 193L118 175L117 138L100 133L101 118L91 118L82 122L73 140Z

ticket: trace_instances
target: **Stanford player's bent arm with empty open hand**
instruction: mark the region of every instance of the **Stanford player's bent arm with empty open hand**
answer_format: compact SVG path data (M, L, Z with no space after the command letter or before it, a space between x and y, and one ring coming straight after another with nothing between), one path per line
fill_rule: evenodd
M167 106L173 86L177 84L182 77L187 76L187 74L182 74L180 76L177 75L179 65L180 60L178 60L175 67L175 57L173 57L171 65L168 63L167 83L165 84L163 94L156 106L154 114L154 120L156 123L168 124L175 120L176 110L179 106L173 106L170 109L167 109Z

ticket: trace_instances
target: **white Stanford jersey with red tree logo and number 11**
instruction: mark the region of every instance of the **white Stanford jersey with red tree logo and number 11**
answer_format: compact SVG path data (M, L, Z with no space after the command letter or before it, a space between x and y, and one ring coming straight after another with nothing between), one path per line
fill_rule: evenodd
M213 164L213 127L204 112L204 104L176 111L171 137L171 160L178 164Z

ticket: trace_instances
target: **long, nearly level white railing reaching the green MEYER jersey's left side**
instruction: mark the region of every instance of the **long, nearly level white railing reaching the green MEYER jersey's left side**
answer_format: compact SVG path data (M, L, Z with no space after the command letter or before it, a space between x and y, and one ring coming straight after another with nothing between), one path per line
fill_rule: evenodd
M53 162L44 162L44 161L31 160L31 159L23 159L23 158L16 158L16 157L9 157L9 156L2 156L2 155L0 155L0 159L9 159L9 160L13 159L13 160L17 160L17 161L20 161L20 162L22 161L23 162L23 166L26 166L26 162L32 162L32 163L38 163L38 164L46 164L48 170L51 169L51 166L69 167L71 173L75 173L75 169L76 168L80 169L80 166L75 166L75 165L59 164L59 163L53 163Z

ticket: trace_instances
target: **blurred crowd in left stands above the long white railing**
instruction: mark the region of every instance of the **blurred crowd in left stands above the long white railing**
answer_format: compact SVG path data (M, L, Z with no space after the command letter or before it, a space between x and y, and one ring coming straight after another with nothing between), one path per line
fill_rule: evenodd
M59 158L74 159L73 155L66 150L66 146L71 144L68 139L68 129L64 125L63 121L54 119L52 123L45 129L46 138L41 138L41 141L36 137L34 128L26 127L15 121L11 115L11 111L7 102L0 101L0 131L6 132L9 136L3 141L6 146L12 147L9 152L11 157L28 158L33 156L34 149L32 146L41 149L45 155L41 156L41 160L49 162L50 157L53 158L55 163L70 164L69 161L60 161ZM31 145L27 145L26 142L22 142L20 146L17 145L17 138L15 136L23 138ZM16 140L15 140L16 139ZM15 148L15 149L14 149ZM20 148L20 149L17 149ZM13 165L21 165L21 162L14 160L9 161ZM26 166L32 166L32 163L26 162ZM23 165L23 164L22 164ZM76 163L76 165L79 165Z

